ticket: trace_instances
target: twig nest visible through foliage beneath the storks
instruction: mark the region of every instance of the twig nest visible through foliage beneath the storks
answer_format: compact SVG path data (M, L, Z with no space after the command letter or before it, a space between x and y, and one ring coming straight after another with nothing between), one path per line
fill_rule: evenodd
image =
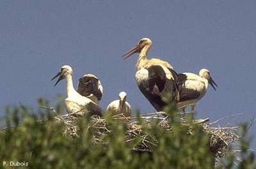
M92 119L88 125L88 130L93 129L93 139L95 143L102 142L102 138L112 132L111 129L109 129L108 121L107 119L100 118L98 116L92 116L91 118ZM134 145L132 151L152 152L158 144L156 136L143 131L141 125L136 121L138 118L147 122L148 125L151 124L152 119L159 119L157 126L162 128L164 132L171 132L172 128L169 125L170 123L168 122L168 117L163 117L161 112L143 114L143 116L140 117L125 117L122 114L113 116L114 121L122 121L127 124L127 131L124 138L125 143L130 143L136 138L140 138L141 142ZM56 117L56 119L65 124L65 135L70 135L73 138L78 136L77 131L79 128L76 125L77 117L71 115L59 115ZM185 119L180 120L180 125L189 124ZM193 121L193 124L202 126L203 131L209 135L208 146L210 151L215 155L216 158L222 158L223 156L227 155L230 147L229 145L231 143L236 143L239 140L239 136L237 136L234 132L234 129L237 129L237 127L214 127L218 121L207 123L208 121L208 118L197 119ZM192 134L193 131L188 131L188 133ZM106 145L107 144L108 143L106 143Z

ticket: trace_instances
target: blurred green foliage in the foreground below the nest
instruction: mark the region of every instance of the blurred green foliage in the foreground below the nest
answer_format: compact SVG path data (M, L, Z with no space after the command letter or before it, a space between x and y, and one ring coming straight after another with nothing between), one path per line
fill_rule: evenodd
M38 99L38 104L43 107L50 105L45 99ZM61 114L63 105L55 108ZM28 114L26 107L8 108L8 129L0 131L0 159L8 163L25 161L29 168L214 168L214 154L207 147L209 136L198 125L180 125L172 105L166 107L166 112L170 115L172 126L172 131L167 133L159 128L157 119L150 126L138 119L143 131L156 136L158 142L153 152L140 152L132 149L143 138L125 143L127 124L115 121L109 115L106 119L111 133L95 143L93 129L88 130L88 117L77 121L78 136L73 138L64 134L65 125L56 122L56 114L49 109L40 110L42 117L38 120L35 114ZM238 168L253 168L255 156L246 151L248 142L244 126L241 135L243 161ZM234 167L233 161L234 158L227 159L225 168ZM4 168L12 167L8 164Z

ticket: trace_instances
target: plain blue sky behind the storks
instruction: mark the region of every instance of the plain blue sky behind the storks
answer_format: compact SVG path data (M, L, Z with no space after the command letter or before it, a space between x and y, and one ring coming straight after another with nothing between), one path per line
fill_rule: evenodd
M100 78L106 108L120 91L133 108L152 112L134 80L137 56L122 55L140 38L152 39L148 57L177 72L208 68L218 83L196 107L198 117L250 121L256 110L255 1L10 1L0 5L0 108L36 98L65 96L51 78L63 64ZM224 122L223 122L224 123ZM251 134L256 134L255 126ZM256 147L256 143L253 143Z

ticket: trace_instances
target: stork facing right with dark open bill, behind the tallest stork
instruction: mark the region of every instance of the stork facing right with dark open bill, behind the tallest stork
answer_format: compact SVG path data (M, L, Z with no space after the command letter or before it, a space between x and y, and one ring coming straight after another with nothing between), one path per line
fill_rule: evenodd
M191 105L191 112L195 111L196 103L204 97L208 83L216 91L218 85L214 82L210 76L210 71L207 69L202 69L199 71L199 75L194 73L180 73L179 77L179 92L180 92L180 102L177 103L182 112L185 112L185 108Z

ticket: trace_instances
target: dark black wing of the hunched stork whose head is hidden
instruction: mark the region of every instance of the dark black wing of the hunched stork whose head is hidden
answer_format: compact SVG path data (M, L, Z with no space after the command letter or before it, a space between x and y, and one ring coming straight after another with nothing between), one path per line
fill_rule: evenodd
M93 94L98 100L102 98L102 91L99 89L99 79L90 75L84 75L84 77L79 78L77 92L84 97Z

